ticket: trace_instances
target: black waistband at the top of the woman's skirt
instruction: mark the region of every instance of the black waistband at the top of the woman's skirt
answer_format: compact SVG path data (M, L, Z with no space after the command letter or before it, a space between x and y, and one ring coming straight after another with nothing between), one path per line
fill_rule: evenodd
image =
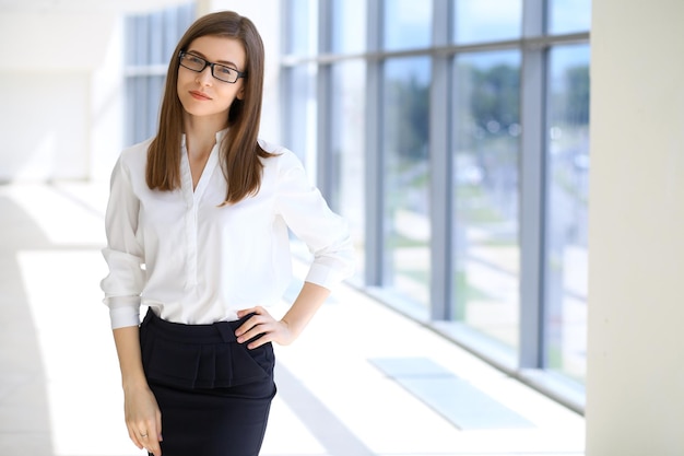
M190 343L220 343L237 342L235 330L249 317L249 314L235 321L216 321L210 325L186 325L182 323L166 321L156 316L152 308L142 320L141 328L153 330L157 336L172 340L182 340Z

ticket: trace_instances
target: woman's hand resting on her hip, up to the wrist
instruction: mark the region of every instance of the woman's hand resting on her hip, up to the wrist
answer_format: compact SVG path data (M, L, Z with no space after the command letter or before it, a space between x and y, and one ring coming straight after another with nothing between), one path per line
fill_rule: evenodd
M249 342L248 349L256 349L268 342L276 342L281 346L292 343L296 336L290 329L287 321L276 320L269 312L261 307L245 308L237 313L238 318L253 314L239 328L235 330L238 343L244 343L262 335L259 339Z

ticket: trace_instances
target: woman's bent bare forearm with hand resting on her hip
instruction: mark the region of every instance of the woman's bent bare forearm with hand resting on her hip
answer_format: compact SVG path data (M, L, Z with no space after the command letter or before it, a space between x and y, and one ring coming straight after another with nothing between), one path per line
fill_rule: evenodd
M239 318L249 314L255 315L237 328L235 331L237 341L244 343L262 335L259 339L250 342L247 348L256 349L267 342L287 346L302 334L329 295L330 290L311 282L304 282L299 295L281 320L273 318L261 306L239 311L237 313Z

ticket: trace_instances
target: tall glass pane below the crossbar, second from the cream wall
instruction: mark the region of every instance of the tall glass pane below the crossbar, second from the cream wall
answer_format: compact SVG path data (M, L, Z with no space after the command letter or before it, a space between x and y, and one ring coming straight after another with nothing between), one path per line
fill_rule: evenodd
M520 54L455 61L453 317L518 347Z

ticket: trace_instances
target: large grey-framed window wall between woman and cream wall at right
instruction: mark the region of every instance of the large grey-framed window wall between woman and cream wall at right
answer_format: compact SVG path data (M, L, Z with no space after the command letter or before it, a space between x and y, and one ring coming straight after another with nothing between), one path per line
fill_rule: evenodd
M285 4L283 135L350 220L355 281L581 384L591 1Z

